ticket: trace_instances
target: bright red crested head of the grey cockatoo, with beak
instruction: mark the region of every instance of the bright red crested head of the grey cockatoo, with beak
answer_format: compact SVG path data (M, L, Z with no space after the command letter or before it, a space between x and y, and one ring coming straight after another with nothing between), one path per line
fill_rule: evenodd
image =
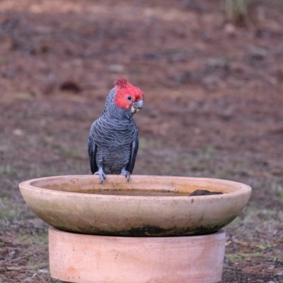
M137 86L133 86L126 79L120 78L115 81L114 88L116 92L114 102L117 107L132 110L132 112L137 112L141 108L142 101L137 102L144 100L144 93Z

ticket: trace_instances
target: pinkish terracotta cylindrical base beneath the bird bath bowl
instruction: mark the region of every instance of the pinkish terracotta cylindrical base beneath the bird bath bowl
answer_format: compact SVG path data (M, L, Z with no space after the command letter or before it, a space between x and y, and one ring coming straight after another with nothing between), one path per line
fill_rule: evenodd
M116 237L50 227L50 272L74 283L215 283L225 231L203 236Z

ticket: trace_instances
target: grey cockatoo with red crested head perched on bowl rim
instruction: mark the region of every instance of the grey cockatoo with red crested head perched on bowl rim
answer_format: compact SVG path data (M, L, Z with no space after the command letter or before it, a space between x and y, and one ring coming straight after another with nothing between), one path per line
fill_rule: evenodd
M139 149L139 131L133 115L141 110L144 93L124 78L116 79L106 98L103 114L93 122L88 134L91 173L129 175Z

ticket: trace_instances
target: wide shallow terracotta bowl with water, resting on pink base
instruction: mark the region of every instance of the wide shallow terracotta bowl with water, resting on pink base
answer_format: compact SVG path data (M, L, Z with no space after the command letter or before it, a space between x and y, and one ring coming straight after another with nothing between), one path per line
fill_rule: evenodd
M110 236L187 236L213 233L248 202L251 188L227 180L171 176L69 175L28 180L20 190L48 224ZM221 195L194 195L209 190Z

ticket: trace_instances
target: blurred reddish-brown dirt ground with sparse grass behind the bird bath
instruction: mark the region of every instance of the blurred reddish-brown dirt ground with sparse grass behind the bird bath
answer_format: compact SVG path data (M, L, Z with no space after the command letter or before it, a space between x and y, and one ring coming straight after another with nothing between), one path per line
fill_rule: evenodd
M221 282L283 282L282 15L281 0L253 1L246 26L216 0L1 0L0 282L57 282L18 183L90 173L88 129L119 76L145 93L134 174L253 187Z

